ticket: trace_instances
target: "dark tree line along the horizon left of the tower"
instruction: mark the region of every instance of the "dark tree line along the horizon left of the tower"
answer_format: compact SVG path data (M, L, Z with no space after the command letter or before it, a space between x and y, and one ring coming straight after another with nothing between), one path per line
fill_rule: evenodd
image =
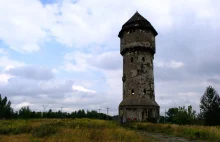
M8 101L7 97L1 97L0 94L0 119L31 119L31 118L91 118L91 119L103 119L112 120L113 117L104 113L98 113L95 110L84 109L74 112L62 112L52 111L49 109L47 112L32 111L29 106L23 106L19 111L13 111L11 108L11 102Z

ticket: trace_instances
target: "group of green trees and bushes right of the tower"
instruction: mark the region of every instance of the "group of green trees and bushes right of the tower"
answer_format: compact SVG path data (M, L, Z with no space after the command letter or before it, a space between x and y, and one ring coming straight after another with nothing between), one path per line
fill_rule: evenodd
M181 125L220 125L220 97L218 92L209 86L200 98L200 112L196 113L192 106L169 108L165 116L160 117L160 123Z

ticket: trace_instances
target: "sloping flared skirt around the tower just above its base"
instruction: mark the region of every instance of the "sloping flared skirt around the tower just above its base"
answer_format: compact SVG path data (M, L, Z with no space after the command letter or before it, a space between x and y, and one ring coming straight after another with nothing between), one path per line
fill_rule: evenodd
M120 106L159 106L156 101L149 98L128 97L124 99Z

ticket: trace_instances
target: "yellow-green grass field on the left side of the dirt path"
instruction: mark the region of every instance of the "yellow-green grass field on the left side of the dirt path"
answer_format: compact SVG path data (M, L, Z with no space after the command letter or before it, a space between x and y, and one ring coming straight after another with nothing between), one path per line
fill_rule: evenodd
M3 142L155 141L116 122L92 119L0 120Z

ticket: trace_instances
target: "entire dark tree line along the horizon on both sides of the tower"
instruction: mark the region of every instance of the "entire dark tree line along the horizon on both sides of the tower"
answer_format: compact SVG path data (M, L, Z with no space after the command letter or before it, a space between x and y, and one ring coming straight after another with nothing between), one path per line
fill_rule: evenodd
M10 118L94 118L94 119L117 119L117 116L109 116L104 113L98 113L95 110L85 111L78 110L71 113L62 111L52 111L48 112L36 112L32 111L29 106L22 107L19 111L13 111L11 108L11 102L5 96L1 97L0 94L0 119L10 119ZM218 92L209 86L206 88L204 94L200 98L200 112L192 108L192 106L182 106L169 108L165 113L165 116L161 116L160 123L172 123L180 125L220 125L220 97Z

